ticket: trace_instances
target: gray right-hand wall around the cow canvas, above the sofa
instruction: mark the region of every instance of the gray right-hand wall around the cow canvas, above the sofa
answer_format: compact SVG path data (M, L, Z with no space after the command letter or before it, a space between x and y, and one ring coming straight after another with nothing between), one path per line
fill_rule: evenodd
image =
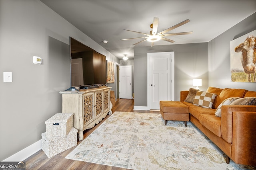
M256 83L231 82L230 73L230 41L255 29L256 13L209 42L209 86L256 91Z

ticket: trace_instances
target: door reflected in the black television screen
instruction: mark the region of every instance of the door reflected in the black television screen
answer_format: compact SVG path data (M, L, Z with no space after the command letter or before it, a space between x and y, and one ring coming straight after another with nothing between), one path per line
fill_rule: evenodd
M84 76L83 76L83 59L72 59L71 60L71 86L80 84L84 84Z

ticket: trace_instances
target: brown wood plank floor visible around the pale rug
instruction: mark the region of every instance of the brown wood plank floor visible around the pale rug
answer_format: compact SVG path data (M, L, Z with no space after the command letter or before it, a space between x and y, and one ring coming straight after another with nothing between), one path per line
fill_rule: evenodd
M160 111L142 111L134 110L134 100L132 99L118 99L113 107L115 111L141 112L141 113L160 113ZM88 137L102 122L108 119L107 115L100 123L95 125L92 129L84 131L84 139ZM80 144L82 141L78 141ZM126 168L118 168L114 166L106 166L101 164L93 164L89 162L82 162L78 160L65 159L65 157L74 149L72 147L64 152L48 158L41 149L26 160L26 170L128 170Z

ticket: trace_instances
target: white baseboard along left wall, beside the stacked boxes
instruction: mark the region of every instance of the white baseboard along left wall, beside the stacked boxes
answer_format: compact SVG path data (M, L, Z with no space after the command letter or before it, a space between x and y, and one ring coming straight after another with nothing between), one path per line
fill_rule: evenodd
M28 158L32 154L38 152L40 149L42 149L42 139L37 141L36 143L33 143L32 145L26 147L25 149L20 150L16 154L13 154L9 158L6 158L5 160L2 160L2 161L3 162L24 161L26 158Z

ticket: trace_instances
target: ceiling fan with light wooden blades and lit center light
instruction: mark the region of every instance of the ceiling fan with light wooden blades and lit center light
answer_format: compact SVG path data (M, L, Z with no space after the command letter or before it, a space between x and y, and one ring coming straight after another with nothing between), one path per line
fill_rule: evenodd
M180 27L181 25L184 25L185 23L188 23L190 22L190 20L185 20L185 21L182 21L168 29L165 29L164 31L161 31L160 33L157 32L157 27L158 27L158 21L159 21L159 18L154 18L153 20L153 23L150 24L150 28L152 28L152 31L150 31L150 34L147 34L147 33L141 33L141 32L137 32L137 31L132 31L132 32L135 32L135 33L140 33L140 34L143 34L143 35L146 35L147 37L136 37L136 38L128 38L128 39L120 39L121 41L122 40L129 40L129 39L144 39L138 43L142 43L143 41L150 41L151 42L151 47L154 46L154 42L158 41L158 40L164 40L164 41L168 41L170 43L174 43L175 41L171 40L171 39L167 39L165 37L167 36L172 36L172 35L185 35L185 34L191 34L193 33L192 31L191 32L181 32L181 33L168 33L168 34L165 34L169 31L171 31L172 29L175 29L177 27ZM131 30L127 30L127 29L124 29L126 31L131 31ZM133 45L136 45L138 43L135 43Z

